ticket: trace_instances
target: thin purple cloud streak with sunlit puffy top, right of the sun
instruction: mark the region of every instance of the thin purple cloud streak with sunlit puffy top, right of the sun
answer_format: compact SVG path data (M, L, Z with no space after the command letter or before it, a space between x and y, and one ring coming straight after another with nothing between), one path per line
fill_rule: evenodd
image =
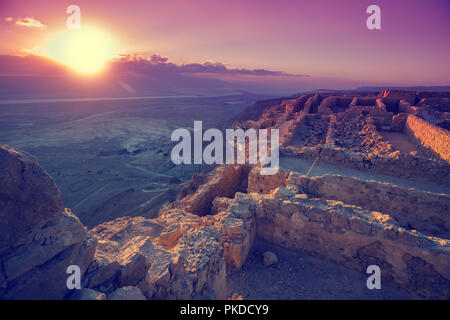
M113 64L115 63L124 72L136 72L139 74L165 71L180 74L309 77L303 74L291 74L266 69L231 68L222 62L214 61L177 65L168 62L168 60L167 57L159 54L153 54L150 58L139 54L122 54L113 60Z

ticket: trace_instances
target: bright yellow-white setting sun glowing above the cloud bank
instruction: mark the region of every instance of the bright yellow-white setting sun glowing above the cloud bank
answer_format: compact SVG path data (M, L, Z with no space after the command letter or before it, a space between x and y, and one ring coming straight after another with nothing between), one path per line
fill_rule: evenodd
M97 73L115 55L111 36L85 27L56 35L46 49L49 58L84 74Z

